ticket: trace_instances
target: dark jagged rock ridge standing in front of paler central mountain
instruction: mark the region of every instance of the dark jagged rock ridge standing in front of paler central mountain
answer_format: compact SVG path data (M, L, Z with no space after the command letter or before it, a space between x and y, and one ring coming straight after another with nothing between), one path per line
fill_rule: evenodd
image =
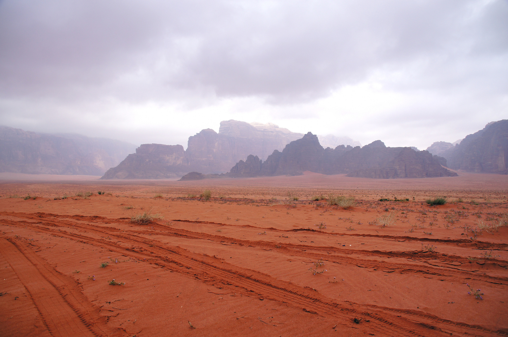
M442 167L442 158L428 151L410 147L386 147L376 140L363 147L321 146L317 136L307 133L286 145L282 152L274 151L265 162L257 156L239 161L226 176L253 177L294 175L303 171L324 174L347 173L348 176L369 178L423 178L456 176Z

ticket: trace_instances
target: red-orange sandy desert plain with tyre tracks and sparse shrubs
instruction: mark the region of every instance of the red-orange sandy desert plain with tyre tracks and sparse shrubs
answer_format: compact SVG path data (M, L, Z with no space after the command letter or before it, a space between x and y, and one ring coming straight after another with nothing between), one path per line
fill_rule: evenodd
M506 175L98 178L0 174L2 336L508 335Z

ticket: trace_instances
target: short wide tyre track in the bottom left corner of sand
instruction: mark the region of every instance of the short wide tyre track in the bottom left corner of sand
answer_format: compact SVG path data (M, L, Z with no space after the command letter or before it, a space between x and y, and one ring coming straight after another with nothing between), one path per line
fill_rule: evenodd
M100 309L88 301L76 282L54 270L35 252L5 238L0 239L0 252L26 289L52 336L117 335L104 326Z

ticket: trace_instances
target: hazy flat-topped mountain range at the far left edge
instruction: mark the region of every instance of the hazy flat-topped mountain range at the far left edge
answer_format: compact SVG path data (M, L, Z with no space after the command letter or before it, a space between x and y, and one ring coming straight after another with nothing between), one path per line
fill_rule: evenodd
M0 127L0 172L103 175L135 145L77 134L51 135Z

